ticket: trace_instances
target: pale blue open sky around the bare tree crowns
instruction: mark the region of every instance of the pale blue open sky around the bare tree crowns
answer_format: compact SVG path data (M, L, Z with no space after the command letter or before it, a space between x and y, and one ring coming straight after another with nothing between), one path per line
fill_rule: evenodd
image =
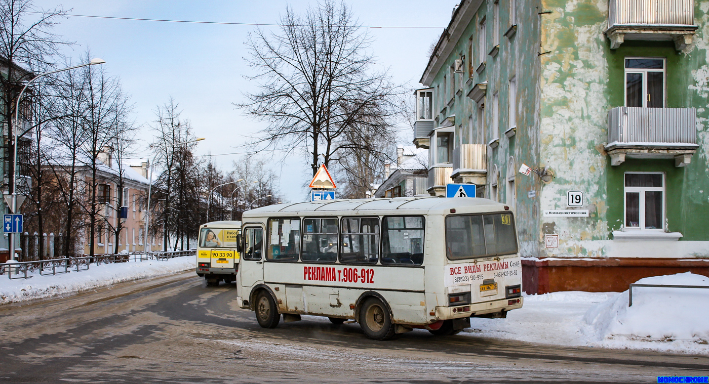
M348 4L364 26L438 26L440 28L369 28L376 61L389 68L399 84L418 86L431 43L450 21L457 1L356 0ZM298 13L315 1L47 1L35 0L44 9L61 6L69 13L130 18L160 18L238 23L278 23L290 5ZM123 89L135 105L135 120L143 125L143 145L152 140L149 124L155 108L173 97L194 132L207 140L197 153L213 154L223 171L240 158L245 135L258 132L263 123L246 118L233 103L242 91L255 91L242 75L250 74L243 57L243 42L254 26L225 26L156 21L125 21L72 16L55 32L77 43L68 55L78 58L87 47L94 57L106 60L105 69L121 78ZM274 27L265 27L274 28ZM400 142L411 143L411 132L401 132ZM144 150L139 153L145 153ZM221 155L220 154L228 154ZM279 157L277 157L279 159ZM140 162L136 159L135 162ZM309 181L307 159L274 161L284 201L303 201Z

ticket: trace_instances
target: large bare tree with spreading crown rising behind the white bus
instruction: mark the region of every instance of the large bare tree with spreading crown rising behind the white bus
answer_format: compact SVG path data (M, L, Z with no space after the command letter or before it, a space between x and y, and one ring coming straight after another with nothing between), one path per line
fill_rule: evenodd
M277 33L255 30L247 38L248 64L260 91L237 106L268 122L255 142L287 152L307 148L313 175L339 152L359 150L381 157L373 147L347 140L362 126L388 136L381 124L396 114L394 96L401 88L389 74L372 69L372 40L361 32L344 3L324 0L303 16L286 9ZM370 124L369 122L375 122Z

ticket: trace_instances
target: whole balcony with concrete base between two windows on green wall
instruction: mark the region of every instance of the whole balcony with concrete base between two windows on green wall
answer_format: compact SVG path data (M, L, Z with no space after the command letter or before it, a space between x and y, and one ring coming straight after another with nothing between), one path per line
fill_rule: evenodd
M608 112L605 150L613 166L625 158L675 159L689 164L697 145L696 108L617 107Z

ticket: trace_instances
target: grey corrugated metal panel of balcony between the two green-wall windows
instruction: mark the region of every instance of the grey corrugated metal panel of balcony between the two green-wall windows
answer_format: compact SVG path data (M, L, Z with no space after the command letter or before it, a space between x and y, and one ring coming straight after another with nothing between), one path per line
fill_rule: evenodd
M696 120L696 108L613 108L607 147L696 147Z

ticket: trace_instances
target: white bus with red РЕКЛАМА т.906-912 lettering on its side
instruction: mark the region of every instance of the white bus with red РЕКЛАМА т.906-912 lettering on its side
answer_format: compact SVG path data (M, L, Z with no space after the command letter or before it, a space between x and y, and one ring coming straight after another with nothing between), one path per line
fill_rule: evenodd
M455 334L522 307L513 214L484 198L379 198L244 213L237 303L273 328L300 315L372 339Z

